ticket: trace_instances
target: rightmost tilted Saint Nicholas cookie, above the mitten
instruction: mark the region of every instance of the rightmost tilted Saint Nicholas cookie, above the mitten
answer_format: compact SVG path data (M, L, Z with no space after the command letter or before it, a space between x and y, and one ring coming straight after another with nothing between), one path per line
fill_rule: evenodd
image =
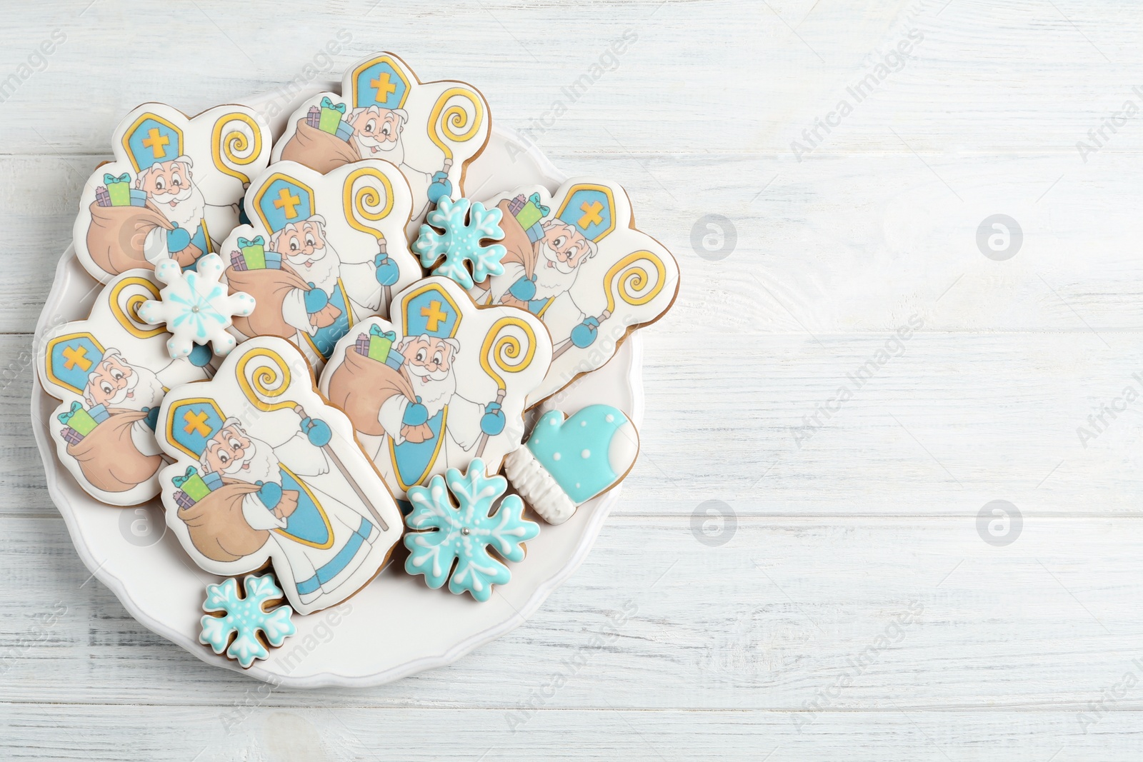
M576 376L601 368L620 343L658 320L679 291L679 266L634 226L631 201L615 184L575 177L554 195L541 186L485 203L504 214L504 272L470 290L477 304L505 304L538 316L554 345L535 404Z

